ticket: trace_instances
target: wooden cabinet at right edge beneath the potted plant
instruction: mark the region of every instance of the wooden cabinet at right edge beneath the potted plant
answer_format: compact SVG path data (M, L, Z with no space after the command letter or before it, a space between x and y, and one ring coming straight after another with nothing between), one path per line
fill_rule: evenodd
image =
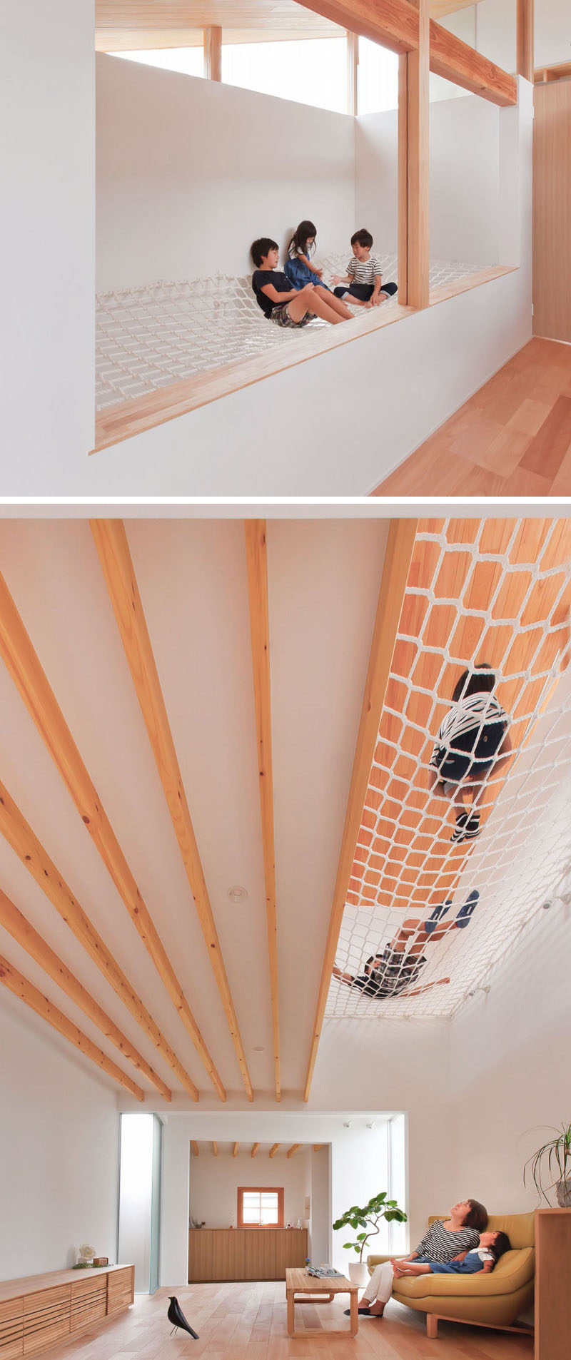
M536 1360L568 1360L571 1209L536 1210Z

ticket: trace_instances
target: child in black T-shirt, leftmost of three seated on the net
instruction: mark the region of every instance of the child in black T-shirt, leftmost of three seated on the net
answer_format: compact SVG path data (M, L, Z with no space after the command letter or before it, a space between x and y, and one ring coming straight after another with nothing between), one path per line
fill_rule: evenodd
M292 288L291 280L277 269L280 252L276 241L261 237L253 242L250 253L256 265L252 275L256 302L276 326L296 329L314 317L333 326L352 320L353 313L322 284L306 283L302 288Z

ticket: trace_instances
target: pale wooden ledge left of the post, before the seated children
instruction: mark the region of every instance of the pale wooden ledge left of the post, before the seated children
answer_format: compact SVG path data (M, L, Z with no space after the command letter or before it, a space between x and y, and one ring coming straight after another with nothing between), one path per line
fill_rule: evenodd
M219 397L227 397L231 392L239 392L241 388L250 388L253 382L261 382L262 378L271 378L275 373L292 369L298 363L305 363L306 359L314 359L315 355L337 350L339 345L348 344L351 340L360 340L371 330L390 326L393 321L401 321L402 317L408 317L413 311L415 307L401 307L398 303L386 311L381 306L364 316L358 314L349 326L344 322L314 335L306 332L296 337L295 345L283 345L283 351L281 347L276 345L268 355L237 359L234 363L212 369L211 373L201 373L196 378L184 378L182 382L155 388L154 392L147 392L143 397L133 397L131 401L107 407L95 419L95 447L91 449L91 453L99 453L101 449L109 449L114 443L121 443L122 439L131 439L144 430L166 424L175 416L184 416L188 411L205 407L209 401L218 401Z

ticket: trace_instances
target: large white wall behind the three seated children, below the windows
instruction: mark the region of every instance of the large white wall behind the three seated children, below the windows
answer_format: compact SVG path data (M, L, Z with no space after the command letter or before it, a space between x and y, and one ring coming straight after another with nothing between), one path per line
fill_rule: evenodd
M234 86L97 57L97 286L247 273L303 218L355 230L355 124Z

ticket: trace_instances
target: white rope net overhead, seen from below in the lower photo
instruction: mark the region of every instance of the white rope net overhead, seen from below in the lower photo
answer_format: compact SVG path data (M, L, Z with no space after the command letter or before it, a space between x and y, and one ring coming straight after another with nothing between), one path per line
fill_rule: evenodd
M420 521L336 966L366 978L411 921L404 960L436 904L451 899L447 925L480 898L466 928L421 945L426 963L404 986L419 994L381 998L333 978L329 1017L453 1016L568 891L570 598L571 521ZM480 836L455 845L458 808L430 792L428 763L453 688L477 662L495 670L513 758L484 783Z

